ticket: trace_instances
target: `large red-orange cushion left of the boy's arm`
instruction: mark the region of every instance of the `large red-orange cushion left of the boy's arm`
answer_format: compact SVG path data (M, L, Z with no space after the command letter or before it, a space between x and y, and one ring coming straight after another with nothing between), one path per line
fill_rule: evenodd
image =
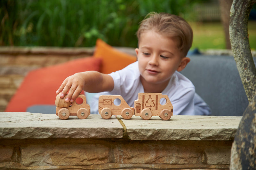
M100 58L79 58L63 64L33 70L28 73L5 112L26 112L38 104L54 104L56 91L69 75L77 72L100 71Z

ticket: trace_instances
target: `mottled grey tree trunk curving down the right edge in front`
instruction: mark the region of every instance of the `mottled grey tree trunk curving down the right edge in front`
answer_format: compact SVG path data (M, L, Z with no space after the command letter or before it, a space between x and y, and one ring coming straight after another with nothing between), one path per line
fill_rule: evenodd
M231 148L230 169L256 169L256 68L248 39L248 18L256 0L234 0L229 35L236 66L249 106L244 111Z

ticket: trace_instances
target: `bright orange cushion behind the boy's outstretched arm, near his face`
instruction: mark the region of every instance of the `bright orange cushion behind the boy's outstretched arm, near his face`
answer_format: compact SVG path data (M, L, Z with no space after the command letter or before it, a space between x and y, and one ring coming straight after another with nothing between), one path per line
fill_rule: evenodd
M121 70L137 60L135 56L118 51L101 39L96 41L93 57L102 58L100 72L105 74Z

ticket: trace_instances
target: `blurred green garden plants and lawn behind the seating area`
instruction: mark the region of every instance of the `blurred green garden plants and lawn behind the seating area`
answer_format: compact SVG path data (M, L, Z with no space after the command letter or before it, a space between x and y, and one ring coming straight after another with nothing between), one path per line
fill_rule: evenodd
M149 12L185 18L192 48L225 49L216 0L1 0L1 46L91 47L101 38L112 46L136 47L139 22ZM256 21L248 24L256 50Z

